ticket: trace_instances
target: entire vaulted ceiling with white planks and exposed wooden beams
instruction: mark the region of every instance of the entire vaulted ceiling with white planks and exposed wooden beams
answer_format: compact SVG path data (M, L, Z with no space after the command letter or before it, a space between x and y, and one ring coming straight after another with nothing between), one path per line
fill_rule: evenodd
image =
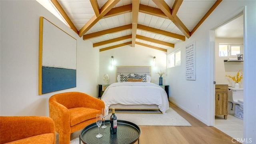
M51 0L100 52L135 44L167 51L196 31L222 0Z

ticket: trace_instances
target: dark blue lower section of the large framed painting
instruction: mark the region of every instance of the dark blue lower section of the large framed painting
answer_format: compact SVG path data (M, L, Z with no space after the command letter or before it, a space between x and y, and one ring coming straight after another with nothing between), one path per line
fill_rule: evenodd
M76 70L42 66L42 94L76 87Z

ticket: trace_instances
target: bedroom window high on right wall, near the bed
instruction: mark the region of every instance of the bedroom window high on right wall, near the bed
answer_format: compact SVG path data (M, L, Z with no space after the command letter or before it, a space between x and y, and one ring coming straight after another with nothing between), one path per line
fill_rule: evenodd
M168 55L168 68L172 68L174 66L180 66L181 61L181 52L180 49Z

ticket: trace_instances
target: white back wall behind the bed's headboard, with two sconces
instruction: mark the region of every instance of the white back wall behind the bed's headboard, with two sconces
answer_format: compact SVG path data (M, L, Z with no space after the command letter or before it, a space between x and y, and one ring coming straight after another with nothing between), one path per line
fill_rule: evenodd
M114 48L100 52L100 74L99 84L105 84L104 74L110 77L109 84L116 82L116 66L151 66L151 82L158 84L159 75L156 72L164 70L166 72L167 52L140 46L135 44ZM110 58L114 56L116 65L110 69ZM156 67L152 65L153 57L156 56ZM163 84L168 84L167 76L163 76Z

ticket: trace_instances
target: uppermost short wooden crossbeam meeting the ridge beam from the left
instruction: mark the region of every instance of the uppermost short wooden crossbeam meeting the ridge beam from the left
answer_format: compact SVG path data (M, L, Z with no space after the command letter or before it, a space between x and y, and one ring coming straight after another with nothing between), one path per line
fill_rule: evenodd
M118 6L117 8L112 8L103 18L109 18L111 16L117 16L120 14L125 14L128 12L132 12L132 4L128 4L125 6Z

